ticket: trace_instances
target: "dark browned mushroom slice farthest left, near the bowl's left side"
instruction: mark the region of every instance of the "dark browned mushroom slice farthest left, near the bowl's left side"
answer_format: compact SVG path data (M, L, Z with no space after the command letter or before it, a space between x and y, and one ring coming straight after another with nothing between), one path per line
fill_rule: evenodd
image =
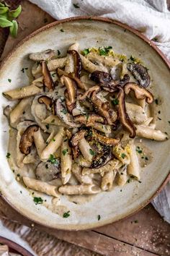
M19 143L19 150L22 154L28 155L30 153L30 148L34 142L34 132L37 132L38 129L39 127L33 124L24 131Z

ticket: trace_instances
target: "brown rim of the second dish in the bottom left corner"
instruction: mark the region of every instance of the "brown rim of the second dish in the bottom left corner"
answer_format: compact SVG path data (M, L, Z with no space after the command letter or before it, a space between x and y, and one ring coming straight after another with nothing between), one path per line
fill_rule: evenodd
M23 256L33 256L31 252L28 252L27 249L24 249L24 247L22 247L20 244L17 244L4 236L0 236L0 243L7 245L9 248L21 253Z

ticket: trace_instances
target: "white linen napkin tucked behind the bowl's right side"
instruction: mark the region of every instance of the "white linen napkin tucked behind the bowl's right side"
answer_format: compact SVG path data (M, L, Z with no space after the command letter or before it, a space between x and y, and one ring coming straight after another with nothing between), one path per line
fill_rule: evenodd
M170 60L170 12L166 0L30 0L56 20L81 15L108 17L134 27ZM170 183L152 201L170 223Z

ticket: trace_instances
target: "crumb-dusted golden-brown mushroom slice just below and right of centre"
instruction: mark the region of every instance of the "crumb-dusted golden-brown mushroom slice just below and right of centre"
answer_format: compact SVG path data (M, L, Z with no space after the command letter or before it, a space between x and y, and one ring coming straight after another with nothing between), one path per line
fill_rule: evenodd
M104 145L115 146L120 142L120 138L110 138L104 135L100 135L95 129L92 129L92 138Z

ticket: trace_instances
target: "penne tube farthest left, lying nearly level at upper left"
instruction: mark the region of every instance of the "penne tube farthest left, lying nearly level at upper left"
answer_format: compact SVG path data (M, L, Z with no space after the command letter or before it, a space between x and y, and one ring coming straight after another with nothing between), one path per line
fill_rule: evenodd
M7 90L3 95L10 101L19 100L22 98L30 97L41 93L43 88L39 88L36 85L28 85L14 90Z

